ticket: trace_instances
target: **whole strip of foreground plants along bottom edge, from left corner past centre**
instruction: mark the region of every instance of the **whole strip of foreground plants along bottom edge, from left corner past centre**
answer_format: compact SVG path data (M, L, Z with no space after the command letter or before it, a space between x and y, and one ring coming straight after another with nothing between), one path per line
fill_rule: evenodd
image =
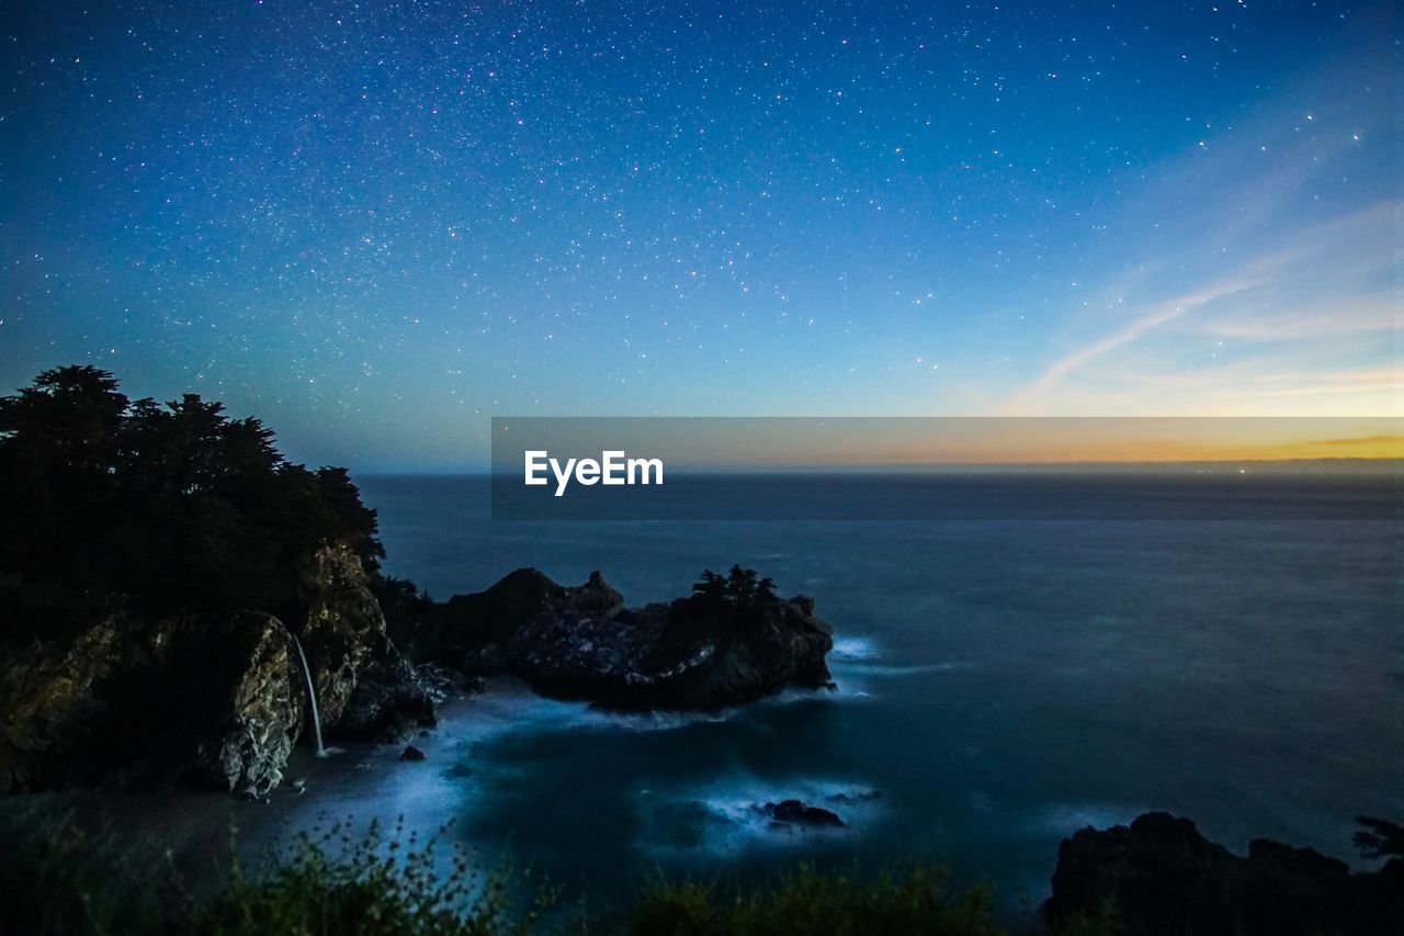
M607 915L552 912L555 894L500 862L480 867L442 829L423 843L396 828L345 824L302 835L258 867L230 850L219 881L195 897L168 854L118 847L69 815L0 815L0 929L32 936L994 936L993 892L952 892L939 864L911 862L868 877L799 864L768 881L698 883L654 876ZM524 897L528 895L528 897ZM597 908L598 909L598 908ZM1105 935L1115 921L1067 932Z

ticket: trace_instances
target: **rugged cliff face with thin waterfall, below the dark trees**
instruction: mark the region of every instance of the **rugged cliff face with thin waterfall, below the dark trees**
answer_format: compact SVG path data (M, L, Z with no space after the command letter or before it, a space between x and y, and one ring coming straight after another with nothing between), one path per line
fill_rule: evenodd
M112 616L0 661L0 786L168 783L244 795L282 780L310 707L306 651L329 738L389 741L434 722L442 696L386 635L357 555L323 547L303 594L267 613Z

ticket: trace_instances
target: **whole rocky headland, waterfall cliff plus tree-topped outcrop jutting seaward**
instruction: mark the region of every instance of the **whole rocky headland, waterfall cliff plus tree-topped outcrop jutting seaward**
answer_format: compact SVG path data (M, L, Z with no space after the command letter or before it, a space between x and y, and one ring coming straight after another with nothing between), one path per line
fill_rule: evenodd
M327 739L388 742L435 722L461 673L619 710L719 708L830 686L830 627L806 597L694 594L625 606L600 573L563 587L521 569L486 592L423 603L400 654L361 559L324 545L295 603L267 611L111 614L0 659L0 787L195 779L264 797L312 736L306 652ZM452 669L445 669L452 668Z

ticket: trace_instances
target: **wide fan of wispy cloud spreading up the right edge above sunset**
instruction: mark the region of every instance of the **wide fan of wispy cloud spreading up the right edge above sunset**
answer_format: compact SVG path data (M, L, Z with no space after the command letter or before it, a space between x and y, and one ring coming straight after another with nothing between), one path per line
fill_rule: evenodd
M1397 409L1396 87L1391 55L1344 56L1146 170L1080 277L1092 298L995 409Z

